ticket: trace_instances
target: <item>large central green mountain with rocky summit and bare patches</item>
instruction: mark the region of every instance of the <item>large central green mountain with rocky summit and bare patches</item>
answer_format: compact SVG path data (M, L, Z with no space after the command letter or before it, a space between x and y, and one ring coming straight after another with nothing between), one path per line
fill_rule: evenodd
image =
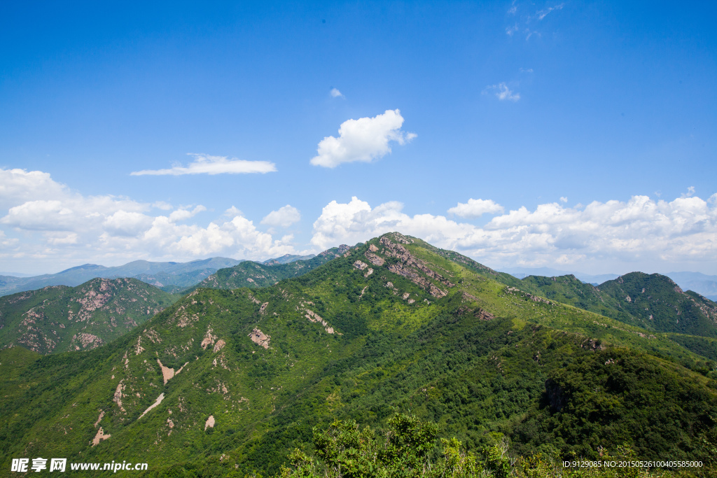
M505 436L513 453L556 458L630 444L703 459L713 362L474 268L386 234L270 287L195 290L95 350L24 363L3 350L0 467L52 456L142 459L147 477L272 474L313 426L381 427L392 407L474 450Z

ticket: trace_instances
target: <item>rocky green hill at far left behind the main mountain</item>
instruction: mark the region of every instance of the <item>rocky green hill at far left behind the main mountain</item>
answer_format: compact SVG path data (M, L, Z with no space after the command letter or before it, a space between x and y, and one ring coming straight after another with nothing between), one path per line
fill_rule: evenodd
M0 348L85 350L118 338L179 297L137 279L92 279L0 297Z

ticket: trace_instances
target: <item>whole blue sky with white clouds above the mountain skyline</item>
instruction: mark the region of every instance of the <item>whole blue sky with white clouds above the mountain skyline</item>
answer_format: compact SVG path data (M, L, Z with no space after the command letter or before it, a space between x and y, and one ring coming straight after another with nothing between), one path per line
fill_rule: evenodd
M625 3L6 2L0 270L400 230L717 274L717 9Z

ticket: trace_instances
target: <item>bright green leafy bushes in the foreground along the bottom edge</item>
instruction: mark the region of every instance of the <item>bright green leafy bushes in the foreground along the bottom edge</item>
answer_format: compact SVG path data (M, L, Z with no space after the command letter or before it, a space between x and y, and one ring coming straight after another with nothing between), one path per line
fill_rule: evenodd
M326 430L313 429L314 456L294 449L290 467L282 467L282 478L358 478L358 477L678 477L683 472L665 472L649 464L635 463L635 452L619 446L616 454L605 452L592 467L579 467L572 460L556 463L541 453L511 459L505 441L484 446L475 454L455 439L441 439L437 453L437 426L417 416L395 414L384 434L351 419L334 421ZM606 464L606 466L597 466ZM611 466L612 465L612 466ZM690 471L708 476L710 464ZM689 472L688 471L688 474Z

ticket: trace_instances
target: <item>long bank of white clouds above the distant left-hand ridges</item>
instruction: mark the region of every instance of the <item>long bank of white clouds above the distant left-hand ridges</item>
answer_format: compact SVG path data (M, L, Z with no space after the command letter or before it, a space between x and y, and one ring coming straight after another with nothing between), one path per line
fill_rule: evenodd
M10 205L0 216L0 257L15 258L16 264L29 257L52 258L52 267L59 268L60 264L189 260L208 255L266 259L296 252L293 236L274 239L258 231L234 206L224 219L207 226L184 224L206 208L172 210L163 202L82 196L40 171L0 170L0 176L9 178L0 186L0 201ZM32 199L38 197L42 199ZM280 211L288 218L290 209Z

